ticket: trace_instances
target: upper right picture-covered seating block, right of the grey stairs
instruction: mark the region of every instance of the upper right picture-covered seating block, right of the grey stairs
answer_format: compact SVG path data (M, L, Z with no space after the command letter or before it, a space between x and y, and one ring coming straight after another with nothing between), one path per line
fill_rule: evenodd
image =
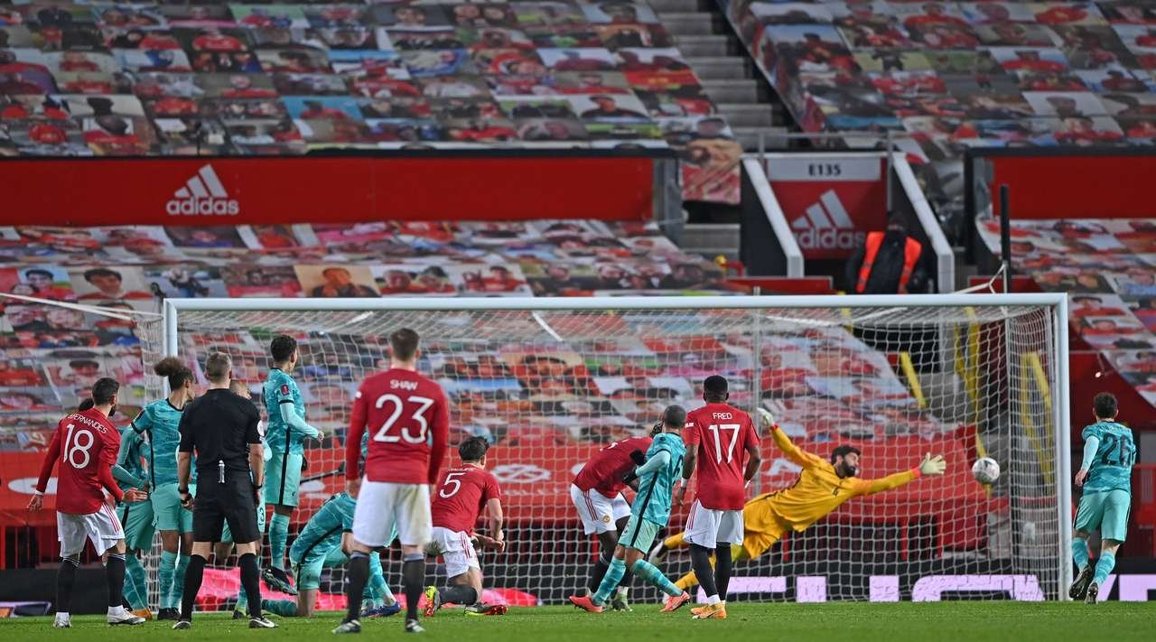
M1148 2L725 5L805 131L905 133L941 202L962 194L965 147L1156 138Z

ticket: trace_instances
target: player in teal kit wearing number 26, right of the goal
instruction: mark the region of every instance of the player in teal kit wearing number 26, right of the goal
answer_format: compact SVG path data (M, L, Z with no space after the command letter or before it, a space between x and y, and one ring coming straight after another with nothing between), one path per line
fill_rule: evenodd
M1072 533L1072 559L1080 569L1068 589L1072 599L1096 604L1099 588L1116 567L1116 551L1124 544L1132 506L1132 464L1136 445L1132 429L1116 421L1116 397L1101 392L1092 400L1096 423L1083 429L1084 455L1076 487L1083 487ZM1095 570L1088 561L1088 536L1099 530L1099 561Z

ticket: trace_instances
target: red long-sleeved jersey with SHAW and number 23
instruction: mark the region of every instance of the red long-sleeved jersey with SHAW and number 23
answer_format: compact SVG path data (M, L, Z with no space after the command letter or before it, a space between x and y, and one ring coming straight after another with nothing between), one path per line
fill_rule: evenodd
M357 464L366 425L370 430L366 479L437 484L450 438L450 404L440 385L397 368L362 382L354 397L346 436L346 478L350 480L362 474Z

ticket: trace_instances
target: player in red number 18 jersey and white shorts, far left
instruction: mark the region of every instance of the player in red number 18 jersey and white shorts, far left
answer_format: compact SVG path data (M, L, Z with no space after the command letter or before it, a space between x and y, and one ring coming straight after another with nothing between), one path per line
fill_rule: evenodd
M57 538L60 540L60 570L57 574L57 617L53 628L69 628L68 606L72 588L80 566L84 540L91 540L97 553L108 553L104 567L109 582L110 625L139 625L144 618L125 610L125 531L113 507L121 500L139 502L147 493L129 489L123 493L112 477L112 466L120 452L120 433L109 421L117 407L120 384L108 377L92 385L91 405L60 420L49 443L40 465L36 493L28 502L28 510L44 507L44 492L49 487L52 468L57 472ZM104 490L112 496L105 501Z

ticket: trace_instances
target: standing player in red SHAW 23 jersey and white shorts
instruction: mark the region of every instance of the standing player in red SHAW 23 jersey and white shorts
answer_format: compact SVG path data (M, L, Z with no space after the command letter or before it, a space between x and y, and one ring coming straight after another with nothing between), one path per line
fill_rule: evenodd
M450 434L450 405L442 386L417 374L417 333L390 334L390 369L362 382L354 397L346 435L346 489L357 499L349 555L349 612L333 633L361 632L361 596L369 577L369 554L388 546L394 527L401 540L401 581L406 591L406 632L421 633L417 600L425 585L425 545L430 485L437 484ZM362 435L372 427L360 466Z

